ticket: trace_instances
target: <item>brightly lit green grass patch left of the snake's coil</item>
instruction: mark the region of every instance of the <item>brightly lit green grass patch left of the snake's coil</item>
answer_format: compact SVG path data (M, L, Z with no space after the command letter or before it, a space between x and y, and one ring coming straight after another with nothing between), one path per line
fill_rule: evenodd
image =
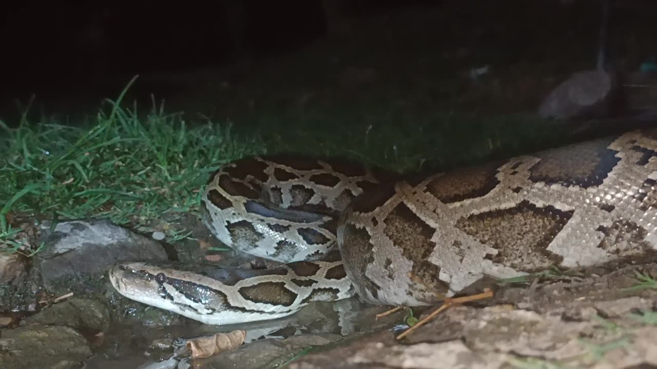
M11 250L24 246L8 217L107 217L139 227L190 211L211 171L261 147L257 139L235 137L230 124L189 127L164 110L140 119L136 107L119 107L120 98L108 100L91 127L2 123L0 198L9 201L0 209L0 242Z

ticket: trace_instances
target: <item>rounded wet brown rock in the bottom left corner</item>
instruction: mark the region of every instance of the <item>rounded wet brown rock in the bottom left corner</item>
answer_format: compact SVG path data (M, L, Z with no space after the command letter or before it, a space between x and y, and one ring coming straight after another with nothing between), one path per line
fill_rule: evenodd
M2 330L0 368L80 368L91 357L87 340L66 326L32 325Z

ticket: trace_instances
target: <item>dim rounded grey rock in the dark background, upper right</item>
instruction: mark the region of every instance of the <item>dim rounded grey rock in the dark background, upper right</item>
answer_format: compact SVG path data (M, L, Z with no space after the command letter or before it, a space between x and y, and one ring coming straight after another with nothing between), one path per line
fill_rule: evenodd
M614 109L615 78L604 70L578 72L560 83L541 103L543 118L607 118Z

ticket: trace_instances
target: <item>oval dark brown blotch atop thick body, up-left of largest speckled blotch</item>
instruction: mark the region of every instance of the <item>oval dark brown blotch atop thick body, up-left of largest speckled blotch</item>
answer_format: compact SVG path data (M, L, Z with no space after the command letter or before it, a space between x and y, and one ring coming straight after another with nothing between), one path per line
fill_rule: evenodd
M481 197L499 184L495 177L498 167L491 163L446 173L428 183L426 191L445 204Z

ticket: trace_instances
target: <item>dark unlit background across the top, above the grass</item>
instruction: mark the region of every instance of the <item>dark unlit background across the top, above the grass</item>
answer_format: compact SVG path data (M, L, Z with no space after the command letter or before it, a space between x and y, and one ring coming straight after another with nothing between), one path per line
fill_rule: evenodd
M635 70L657 54L657 1L612 3L614 62ZM250 76L250 86L265 83L260 81L269 76L289 77L268 81L263 93L284 95L299 84L312 85L316 92L325 88L326 80L353 79L344 76L353 66L376 70L378 91L417 91L409 81L432 79L441 88L449 85L454 94L473 97L462 99L468 103L461 106L444 91L422 92L451 107L469 110L472 104L489 104L495 110L509 102L491 98L516 94L507 97L514 108L530 109L559 79L595 68L599 5L598 0L8 3L0 16L0 119L15 119L12 114L25 109L30 97L44 114L93 109L102 98L115 98L137 74L130 98L150 104L154 93L173 101L175 108L208 110L217 104L242 104L228 101L239 91L220 88L230 78L231 86L240 84L235 76L242 76L242 82ZM300 61L310 53L325 54L315 59L321 62ZM336 55L342 64L327 66ZM422 60L437 62L418 68ZM279 68L281 64L289 68ZM493 91L473 93L466 78L451 80L484 65L496 72ZM172 82L171 76L181 79L183 72L200 70L216 73L206 74L202 83ZM210 81L216 88L200 87ZM217 99L192 107L194 94ZM178 100L185 102L176 104L183 95L186 100Z

